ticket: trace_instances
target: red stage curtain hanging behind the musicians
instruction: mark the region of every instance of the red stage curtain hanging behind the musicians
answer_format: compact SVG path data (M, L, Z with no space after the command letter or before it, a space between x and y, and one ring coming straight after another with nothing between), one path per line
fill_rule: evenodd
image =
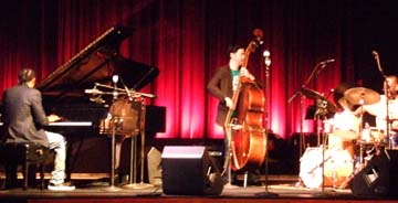
M308 88L327 94L353 79L352 9L349 1L335 0L12 1L0 9L0 90L17 83L20 68L31 66L42 79L108 28L129 24L135 31L121 53L160 70L144 89L159 96L148 103L167 107L167 131L157 137L222 138L206 84L227 63L228 45L247 45L259 28L264 44L252 53L249 70L265 81L262 53L271 52L271 129L289 137L300 131L302 116L300 97L287 99L316 63L336 60ZM303 103L305 110L312 100ZM304 131L313 131L312 121Z

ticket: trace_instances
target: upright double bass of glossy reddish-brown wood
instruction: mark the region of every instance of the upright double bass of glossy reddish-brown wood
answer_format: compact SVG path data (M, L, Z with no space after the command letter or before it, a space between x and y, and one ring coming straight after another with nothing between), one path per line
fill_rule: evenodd
M262 43L262 31L253 31L254 39L250 41L244 52L247 67L249 56ZM260 167L266 153L266 136L263 127L265 97L259 84L240 76L237 90L232 96L232 107L224 122L230 140L231 169Z

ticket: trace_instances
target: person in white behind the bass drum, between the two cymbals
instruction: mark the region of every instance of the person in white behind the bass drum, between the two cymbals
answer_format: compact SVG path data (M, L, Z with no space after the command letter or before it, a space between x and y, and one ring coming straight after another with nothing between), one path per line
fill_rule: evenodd
M353 85L348 83L342 83L335 88L333 99L337 106L337 111L331 120L333 131L328 135L328 148L347 150L354 159L354 141L359 137L360 120L354 114L356 106L344 97L344 93L352 87Z

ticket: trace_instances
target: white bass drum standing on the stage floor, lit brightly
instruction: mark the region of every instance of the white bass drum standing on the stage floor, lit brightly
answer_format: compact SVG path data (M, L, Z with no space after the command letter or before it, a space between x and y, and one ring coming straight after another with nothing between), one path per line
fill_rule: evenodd
M300 178L306 188L321 188L323 183L323 152L320 148L307 148L300 159ZM345 188L354 172L354 160L346 150L325 149L324 186Z

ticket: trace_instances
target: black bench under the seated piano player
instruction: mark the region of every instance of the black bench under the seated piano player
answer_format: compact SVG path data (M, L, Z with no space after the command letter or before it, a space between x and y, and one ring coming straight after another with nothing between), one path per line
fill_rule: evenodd
M0 161L6 170L6 189L17 185L17 169L22 165L23 190L28 189L28 182L36 183L35 168L40 169L40 189L44 189L44 164L53 151L46 147L33 142L1 143Z

